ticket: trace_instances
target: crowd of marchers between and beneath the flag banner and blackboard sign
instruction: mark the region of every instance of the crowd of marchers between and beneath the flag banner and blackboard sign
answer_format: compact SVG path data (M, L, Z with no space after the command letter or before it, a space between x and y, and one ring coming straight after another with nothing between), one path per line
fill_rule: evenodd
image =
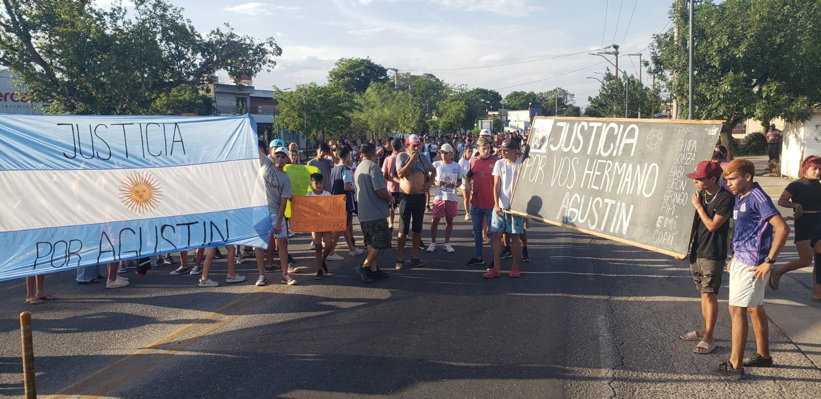
M172 276L197 275L199 287L217 287L219 282L209 277L214 259L227 259L225 282L245 282L246 277L236 273L236 264L254 256L259 276L255 284L264 286L270 273L279 273L279 282L296 284L291 273L300 270L288 250L289 238L299 233L291 232L285 218L287 201L291 199L291 178L285 172L287 163L306 164L316 167L319 173L310 177L308 195L344 195L346 200L346 230L344 232L314 232L310 251L314 252L315 279L328 275L328 261L341 261L337 254L337 241L344 236L347 255L363 255L356 245L354 217L364 239L367 253L361 267L356 270L365 283L388 277L389 273L378 267L378 255L397 247L394 268L420 267L423 265L420 251L429 253L441 249L447 253L456 250L451 245L454 219L458 217L458 195L461 190L466 220L473 220L474 256L466 264L485 264L483 247L490 245L493 260L484 277L499 277L501 259L513 257L511 277L521 275L520 260L529 262L527 253L526 223L523 218L503 213L510 208L510 197L516 172L525 153L524 135L513 133L492 134L487 129L479 135L441 135L438 137L407 135L405 140L388 138L369 140L356 145L352 140L319 144L315 158L306 159L296 143L286 146L283 140L269 144L259 142L260 175L267 189L268 209L273 227L268 249L242 245L221 248L200 248L177 254L158 255L156 259L142 258L104 265L78 268L76 282L94 284L105 279L105 287L121 288L131 284L125 274L134 269L137 276L145 276L149 269L165 265L177 266ZM433 188L433 190L431 190ZM431 192L433 191L433 192ZM431 198L433 197L433 198ZM431 206L431 199L433 205ZM422 241L424 217L431 213L429 242ZM397 227L394 244L393 232ZM444 234L439 224L444 218ZM406 263L407 237L411 234L410 261ZM442 237L443 236L443 237ZM439 241L443 240L443 241ZM440 244L440 242L442 242ZM103 268L101 273L100 268ZM55 296L44 291L44 277L28 277L26 303L38 305Z

